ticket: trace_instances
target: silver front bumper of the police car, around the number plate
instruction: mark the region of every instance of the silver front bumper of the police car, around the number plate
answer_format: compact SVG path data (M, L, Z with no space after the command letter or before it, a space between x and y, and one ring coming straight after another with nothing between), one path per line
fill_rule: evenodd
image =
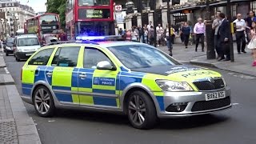
M205 94L225 91L226 97L206 101ZM229 87L207 92L165 92L164 110L158 111L159 118L186 117L198 114L210 114L231 108L231 91ZM180 111L178 111L180 110Z

